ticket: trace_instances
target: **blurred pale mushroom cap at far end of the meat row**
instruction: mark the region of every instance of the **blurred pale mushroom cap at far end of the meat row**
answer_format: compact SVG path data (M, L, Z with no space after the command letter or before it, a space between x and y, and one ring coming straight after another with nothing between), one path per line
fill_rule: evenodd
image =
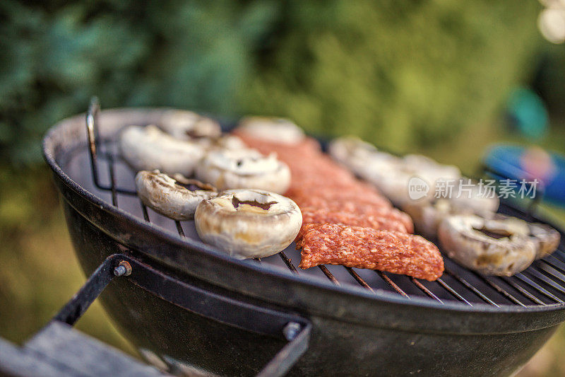
M295 123L274 117L244 117L239 122L237 132L283 144L298 144L304 139L304 131Z

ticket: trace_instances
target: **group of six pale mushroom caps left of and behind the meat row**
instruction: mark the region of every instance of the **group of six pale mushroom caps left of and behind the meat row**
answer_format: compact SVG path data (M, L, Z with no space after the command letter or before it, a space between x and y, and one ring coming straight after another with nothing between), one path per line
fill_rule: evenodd
M261 117L245 118L239 132L289 143L304 137L292 122ZM290 185L288 166L222 134L208 117L168 110L155 125L126 127L119 148L138 172L145 205L174 220L194 219L201 240L232 257L278 253L302 226L297 204L280 195Z

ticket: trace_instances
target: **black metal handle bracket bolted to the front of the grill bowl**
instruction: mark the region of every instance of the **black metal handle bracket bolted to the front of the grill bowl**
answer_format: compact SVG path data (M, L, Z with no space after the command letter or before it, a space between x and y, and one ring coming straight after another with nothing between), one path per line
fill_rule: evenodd
M309 320L191 286L122 254L107 257L51 323L74 325L115 277L127 277L131 284L151 289L160 298L206 318L287 340L257 376L284 376L308 349L312 327Z

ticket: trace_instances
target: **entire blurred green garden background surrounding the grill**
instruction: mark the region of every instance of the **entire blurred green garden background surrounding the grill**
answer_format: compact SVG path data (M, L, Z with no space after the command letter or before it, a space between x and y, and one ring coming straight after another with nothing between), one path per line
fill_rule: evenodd
M545 37L538 25L545 8L559 7L1 1L0 337L23 342L84 281L40 140L91 95L103 108L290 117L313 134L357 134L475 174L494 142L564 152L565 47L547 39L560 42L565 18L542 25ZM542 211L565 224L563 209ZM78 327L134 352L98 304ZM521 376L564 375L563 349L565 328Z

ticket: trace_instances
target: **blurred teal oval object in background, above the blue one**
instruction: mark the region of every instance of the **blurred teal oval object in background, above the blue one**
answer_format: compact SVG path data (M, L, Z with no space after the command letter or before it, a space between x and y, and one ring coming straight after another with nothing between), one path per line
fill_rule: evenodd
M539 95L528 88L515 89L508 100L508 114L513 127L525 137L541 138L547 134L547 108Z

